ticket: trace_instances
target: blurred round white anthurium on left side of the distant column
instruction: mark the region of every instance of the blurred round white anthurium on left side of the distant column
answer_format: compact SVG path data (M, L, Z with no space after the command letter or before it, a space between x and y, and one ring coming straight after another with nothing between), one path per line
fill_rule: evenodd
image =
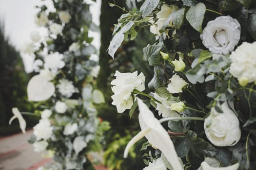
M40 102L48 100L55 93L55 86L48 81L46 76L35 75L30 79L27 85L28 100Z

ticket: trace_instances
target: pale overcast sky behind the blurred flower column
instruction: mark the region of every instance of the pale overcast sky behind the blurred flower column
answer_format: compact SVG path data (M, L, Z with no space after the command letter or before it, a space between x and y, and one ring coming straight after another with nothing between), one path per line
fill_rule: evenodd
M90 0L86 0L90 1ZM99 25L100 15L100 2L92 2L90 8L93 14L93 21ZM20 50L22 45L26 42L30 42L30 33L35 30L39 30L43 34L43 29L39 28L34 23L34 18L38 12L35 8L36 5L45 4L48 9L53 10L51 0L0 0L0 21L4 22L5 35L9 37L12 45ZM94 37L93 45L97 49L100 47L100 35L98 33L91 33ZM24 63L26 67L31 65L31 61L25 59Z

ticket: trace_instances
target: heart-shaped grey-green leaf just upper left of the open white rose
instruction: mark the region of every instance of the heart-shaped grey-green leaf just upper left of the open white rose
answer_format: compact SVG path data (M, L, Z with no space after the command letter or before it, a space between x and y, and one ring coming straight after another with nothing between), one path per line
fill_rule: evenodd
M190 7L186 14L186 18L190 25L199 33L202 33L202 23L205 11L205 5L203 3L198 3L196 6Z

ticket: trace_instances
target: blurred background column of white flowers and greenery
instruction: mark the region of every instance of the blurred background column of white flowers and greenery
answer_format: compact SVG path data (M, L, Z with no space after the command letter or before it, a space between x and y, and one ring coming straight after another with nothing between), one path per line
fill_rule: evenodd
M36 59L36 75L29 81L27 93L35 106L35 114L30 115L41 118L29 142L36 152L47 150L53 155L57 164L51 168L89 169L93 167L87 153L100 151L103 131L109 129L107 122L97 118L94 107L104 102L103 94L94 89L98 56L88 31L95 24L89 4L83 0L52 2L54 12L43 5L35 17L36 24L46 28L48 35L31 33L33 43L26 45L24 53ZM13 113L10 123L18 118L25 132L26 122L19 110L14 108Z

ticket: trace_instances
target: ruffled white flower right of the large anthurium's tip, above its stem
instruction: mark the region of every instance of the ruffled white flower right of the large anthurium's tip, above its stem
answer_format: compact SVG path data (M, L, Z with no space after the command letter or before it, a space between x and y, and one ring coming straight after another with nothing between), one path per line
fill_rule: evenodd
M158 110L159 116L162 115L163 118L180 117L177 112L171 109L171 104L174 103L174 101L169 101L167 97L160 97L157 93L153 93L153 95L156 100L161 102L155 102L157 104L156 110Z

